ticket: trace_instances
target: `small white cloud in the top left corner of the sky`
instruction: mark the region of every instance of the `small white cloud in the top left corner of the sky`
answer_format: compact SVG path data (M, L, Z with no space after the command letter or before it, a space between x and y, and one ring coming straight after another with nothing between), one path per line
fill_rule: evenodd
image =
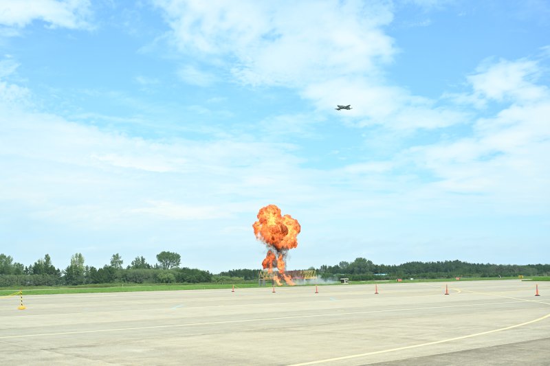
M89 28L89 0L17 0L0 2L0 24L24 27L36 19L52 27Z

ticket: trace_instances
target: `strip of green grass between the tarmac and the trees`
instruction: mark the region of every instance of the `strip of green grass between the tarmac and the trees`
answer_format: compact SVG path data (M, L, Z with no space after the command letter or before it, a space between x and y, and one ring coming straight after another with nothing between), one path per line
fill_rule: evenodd
M487 281L487 280L503 280L517 279L518 277L461 277L460 281ZM542 277L525 277L528 281L550 281L550 276ZM402 282L454 282L454 278L435 278L435 279L403 279ZM377 280L377 281L351 281L350 285L360 284L380 284L387 282L395 282L392 280ZM335 284L334 282L329 284ZM338 283L336 283L338 284ZM314 284L309 284L313 286ZM322 286L323 284L318 284ZM121 292L136 292L136 291L173 291L173 290L208 290L215 288L252 288L258 287L257 282L243 282L234 284L87 284L80 286L40 286L40 287L22 287L22 288L0 288L0 297L11 295L19 290L23 290L24 295L52 295L52 294L71 294L71 293L121 293ZM266 286L271 286L267 284ZM346 286L346 285L343 285Z

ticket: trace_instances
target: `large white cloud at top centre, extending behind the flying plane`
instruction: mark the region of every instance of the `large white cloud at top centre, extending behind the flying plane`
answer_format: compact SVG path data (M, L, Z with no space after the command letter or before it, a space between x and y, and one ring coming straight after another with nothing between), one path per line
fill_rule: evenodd
M297 89L323 112L335 104L349 124L391 129L441 128L464 121L462 113L435 106L384 80L382 67L397 52L383 27L393 6L370 1L157 1L181 52L251 85ZM430 2L433 6L434 2ZM204 85L212 77L187 67L186 82Z

